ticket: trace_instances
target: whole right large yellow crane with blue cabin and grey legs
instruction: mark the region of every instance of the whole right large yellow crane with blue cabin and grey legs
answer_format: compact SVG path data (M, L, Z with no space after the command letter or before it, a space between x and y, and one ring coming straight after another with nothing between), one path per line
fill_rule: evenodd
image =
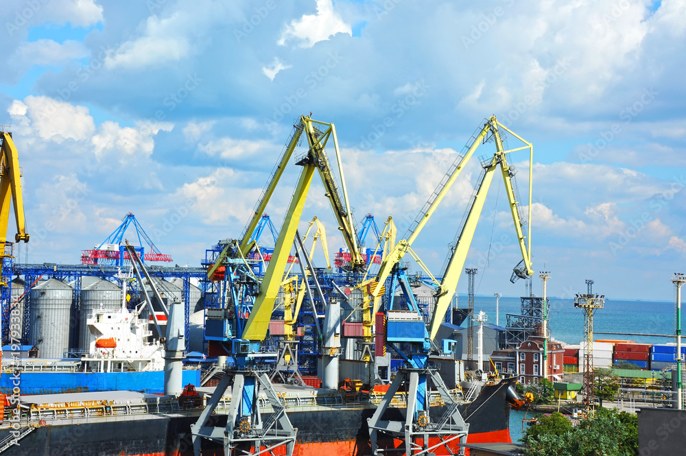
M500 128L512 134L519 139L524 145L514 149L505 150L500 134ZM434 278L434 282L438 283L438 292L436 293L436 305L431 314L431 321L429 328L426 327L421 313L419 312L412 290L407 284L407 277L405 269L399 267L399 262L403 259L406 252L410 252L414 259L425 269L431 276L431 273L425 267L421 259L412 251L412 243L421 232L431 215L434 214L438 204L445 197L447 191L451 188L453 182L459 176L466 163L474 154L477 147L486 142L494 141L496 152L490 159L482 160L482 175L478 184L477 191L471 201L469 213L464 221L464 225L458 230L458 237L455 245L451 248L451 255L443 273L440 283ZM519 217L519 210L517 207L517 200L512 187L512 176L514 176L514 169L508 165L506 154L521 149L530 150L530 179L529 179L529 231L528 237L525 237L522 229L522 222ZM519 247L523 260L517 267L515 267L515 274L513 276L528 277L533 274L531 267L531 173L533 162L533 147L527 141L521 139L520 136L508 130L504 125L499 123L495 116L490 117L484 122L482 128L478 129L473 135L473 141L466 146L466 153L458 159L449 168L444 178L438 184L434 193L429 197L427 203L423 206L418 217L416 217L414 224L410 227L410 236L402 241L399 241L393 250L388 254L386 259L381 263L379 274L377 276L378 285L386 283L386 279L390 277L390 293L388 302L386 304L386 312L383 315L383 326L386 328L385 341L386 346L389 346L396 351L405 361L405 366L399 370L393 383L388 389L386 396L384 396L381 405L374 416L368 419L368 426L370 429L370 440L372 446L372 454L377 455L382 448L378 448L379 434L390 435L394 439L403 440L405 442L405 453L407 456L434 452L438 446L447 446L451 440L460 439L462 443L466 441L469 426L462 420L458 412L458 405L456 400L452 398L445 388L445 384L436 373L436 370L431 369L428 363L428 354L431 349L431 342L436 337L438 328L442 322L442 317L445 315L449 304L453 298L458 279L464 267L466 254L469 251L469 245L474 236L477 221L481 215L484 207L484 201L488 188L493 180L495 170L500 167L503 176L508 201L510 203L510 211L514 221L514 228L517 232L517 239L519 240ZM433 278L433 276L431 276ZM394 289L399 284L409 309L396 309L394 304ZM374 312L377 313L381 306L381 296L383 296L382 287L377 286L372 291L372 296L375 298ZM377 325L379 323L377 322ZM379 329L377 328L377 332ZM405 347L405 348L403 348ZM427 380L431 379L438 389L441 397L445 401L447 411L445 415L436 423L431 423L429 420L429 401L427 400ZM394 422L382 420L381 417L386 411L393 395L398 391L403 383L407 383L409 387L409 394L407 396L407 416L405 422ZM445 438L447 435L452 437ZM418 438L422 438L422 444L417 444ZM438 443L429 445L430 437L438 437ZM450 451L450 450L449 450Z

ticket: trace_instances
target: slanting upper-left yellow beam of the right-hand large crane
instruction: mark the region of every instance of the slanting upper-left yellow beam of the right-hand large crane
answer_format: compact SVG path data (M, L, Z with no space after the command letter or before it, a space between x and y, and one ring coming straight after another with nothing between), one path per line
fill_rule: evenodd
M469 146L469 149L467 150L466 154L464 154L464 156L460 158L460 161L457 165L453 164L453 166L451 167L451 169L449 169L446 176L440 181L438 187L436 187L434 193L431 194L429 200L424 205L424 208L415 220L416 226L412 229L410 237L408 237L407 240L403 239L402 241L397 243L393 250L388 254L388 256L386 256L386 259L381 263L381 267L379 267L379 274L377 276L377 280L379 281L379 283L385 283L393 267L397 265L401 261L401 259L403 259L405 253L407 253L407 249L410 248L410 246L414 242L414 239L416 239L416 237L421 232L422 228L424 228L424 226L426 225L427 221L429 221L431 215L433 215L433 213L436 211L438 204L440 204L440 202L443 200L443 197L445 197L446 193L450 190L455 180L458 178L458 176L460 176L462 169L464 169L464 166L469 161L471 156L474 154L477 147L479 147L482 141L484 141L484 139L486 138L486 134L488 134L489 131L494 130L496 122L497 121L495 119L495 116L490 117L490 119L486 121L482 130L479 132L479 134L476 135L474 141ZM380 293L381 287L377 287L372 295L374 296L374 313L379 311L379 307L381 306Z

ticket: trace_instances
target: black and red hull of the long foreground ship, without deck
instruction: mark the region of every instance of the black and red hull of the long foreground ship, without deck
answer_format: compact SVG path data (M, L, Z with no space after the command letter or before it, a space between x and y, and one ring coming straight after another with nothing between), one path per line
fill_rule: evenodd
M499 385L484 387L473 402L460 408L462 417L469 423L469 443L512 442L509 433L510 406L506 391L512 380ZM359 408L309 409L289 411L288 416L298 429L294 456L366 456L371 453L367 418L374 413L374 405ZM443 407L433 407L432 419L438 418ZM387 419L404 420L402 409L389 409ZM435 418L434 418L435 417ZM144 416L108 417L86 422L49 424L37 427L18 445L11 446L3 456L190 456L191 424L195 416L149 414ZM226 423L226 416L217 416L217 425ZM0 440L10 435L8 429L0 430ZM418 443L421 443L418 442ZM449 455L458 453L458 440L447 446L438 446L432 453ZM404 445L397 440L381 440L385 448L398 448L397 455L404 453ZM438 439L429 439L429 446ZM284 454L285 448L276 448L275 455ZM203 442L202 455L224 455L224 449L212 442Z

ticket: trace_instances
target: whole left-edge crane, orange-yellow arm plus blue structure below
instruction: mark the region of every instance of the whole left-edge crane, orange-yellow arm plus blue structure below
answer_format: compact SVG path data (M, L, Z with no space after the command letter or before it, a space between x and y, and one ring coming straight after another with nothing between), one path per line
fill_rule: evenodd
M0 252L2 256L2 275L0 277L0 301L2 309L2 342L10 342L10 300L12 283L12 259L14 259L14 245L7 241L7 230L10 222L10 202L14 206L14 220L16 221L16 234L14 241L28 242L29 235L26 232L24 221L24 203L21 193L21 169L19 169L19 153L16 151L12 133L0 129L0 200L2 201L2 213L0 213ZM16 339L19 339L18 336Z

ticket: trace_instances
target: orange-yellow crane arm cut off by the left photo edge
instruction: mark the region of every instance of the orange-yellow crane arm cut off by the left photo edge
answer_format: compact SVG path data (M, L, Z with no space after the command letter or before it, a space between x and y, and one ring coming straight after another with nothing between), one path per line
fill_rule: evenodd
M10 200L14 202L14 219L16 220L16 235L14 241L29 241L24 221L24 203L21 193L21 173L19 171L19 154L12 141L12 133L0 132L0 147L2 149L0 165L0 200L2 213L0 214L0 245L5 245L7 229L10 221Z

